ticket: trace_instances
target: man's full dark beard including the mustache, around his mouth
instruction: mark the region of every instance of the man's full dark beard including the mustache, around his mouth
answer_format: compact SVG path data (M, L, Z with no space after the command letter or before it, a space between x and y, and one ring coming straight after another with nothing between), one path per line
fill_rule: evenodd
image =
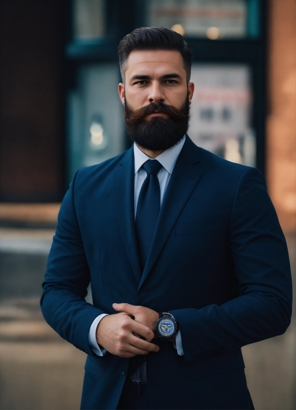
M167 118L145 118L154 112L165 113ZM188 94L180 109L162 102L150 103L133 111L125 101L125 123L128 137L149 151L158 151L176 145L188 130Z

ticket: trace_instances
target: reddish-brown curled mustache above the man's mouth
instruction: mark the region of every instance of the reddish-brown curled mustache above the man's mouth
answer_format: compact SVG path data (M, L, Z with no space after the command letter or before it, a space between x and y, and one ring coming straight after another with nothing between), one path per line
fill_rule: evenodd
M132 111L129 106L125 104L126 120L133 124L141 123L146 116L155 112L167 114L169 118L174 120L183 120L184 117L187 117L185 107L179 110L173 105L164 104L163 102L150 103L135 111Z

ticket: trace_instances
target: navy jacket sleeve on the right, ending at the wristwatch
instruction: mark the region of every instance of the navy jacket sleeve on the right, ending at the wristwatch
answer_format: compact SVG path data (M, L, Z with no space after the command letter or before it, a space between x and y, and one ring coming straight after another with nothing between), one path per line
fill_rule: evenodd
M292 280L285 237L262 174L241 175L229 221L229 244L240 296L221 306L179 309L185 362L233 351L283 334L292 314Z

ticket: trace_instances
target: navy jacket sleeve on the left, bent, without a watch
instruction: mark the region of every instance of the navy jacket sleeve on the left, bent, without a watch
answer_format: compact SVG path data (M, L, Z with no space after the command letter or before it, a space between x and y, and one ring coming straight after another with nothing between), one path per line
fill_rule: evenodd
M93 320L105 312L84 300L90 276L74 209L77 172L59 212L43 282L41 308L47 323L62 338L94 355L88 332Z

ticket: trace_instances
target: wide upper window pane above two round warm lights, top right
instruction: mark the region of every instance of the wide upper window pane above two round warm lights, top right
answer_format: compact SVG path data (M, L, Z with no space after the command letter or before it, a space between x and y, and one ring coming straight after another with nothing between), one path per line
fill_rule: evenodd
M148 25L212 40L256 37L258 10L259 0L149 0Z

